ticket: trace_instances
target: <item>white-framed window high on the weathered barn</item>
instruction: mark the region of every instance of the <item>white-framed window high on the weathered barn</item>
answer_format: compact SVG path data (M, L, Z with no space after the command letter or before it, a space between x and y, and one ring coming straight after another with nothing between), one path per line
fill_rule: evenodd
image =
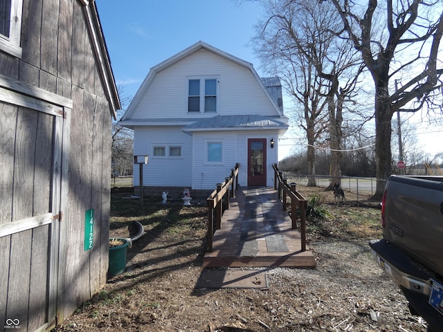
M21 57L21 8L23 0L0 0L0 50Z

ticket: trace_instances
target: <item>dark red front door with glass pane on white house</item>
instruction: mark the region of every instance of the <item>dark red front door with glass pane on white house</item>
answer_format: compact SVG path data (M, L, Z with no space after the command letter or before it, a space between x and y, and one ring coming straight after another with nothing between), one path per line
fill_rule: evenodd
M249 138L248 156L248 185L266 185L266 138Z

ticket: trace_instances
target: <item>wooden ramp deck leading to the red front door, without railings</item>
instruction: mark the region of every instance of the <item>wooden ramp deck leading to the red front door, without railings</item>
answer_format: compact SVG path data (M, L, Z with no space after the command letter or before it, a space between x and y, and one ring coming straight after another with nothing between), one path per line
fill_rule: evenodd
M203 266L316 266L313 253L301 251L300 233L291 229L291 218L272 187L242 188L235 196Z

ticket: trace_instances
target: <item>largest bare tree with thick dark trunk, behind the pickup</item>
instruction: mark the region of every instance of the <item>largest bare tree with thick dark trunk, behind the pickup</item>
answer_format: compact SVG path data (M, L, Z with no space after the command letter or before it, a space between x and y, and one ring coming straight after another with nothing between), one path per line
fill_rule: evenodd
M392 156L390 122L395 111L415 112L437 104L442 64L437 59L443 34L441 1L320 0L333 3L343 25L336 35L346 38L359 51L374 81L377 178L390 175ZM391 92L392 82L404 83ZM390 89L391 88L391 89ZM440 95L441 96L441 95ZM383 182L377 181L377 193Z

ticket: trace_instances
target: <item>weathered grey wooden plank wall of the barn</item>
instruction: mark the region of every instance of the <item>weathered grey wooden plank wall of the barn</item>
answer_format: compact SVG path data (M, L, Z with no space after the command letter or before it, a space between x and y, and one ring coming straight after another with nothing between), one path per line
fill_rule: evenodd
M8 319L19 319L20 331L50 326L55 315L61 322L107 279L111 113L82 6L78 0L24 0L22 57L0 52L0 75L72 101L72 107L61 105L66 113L57 118L0 100L0 226L57 214L53 196L63 211L62 221L0 237L0 329ZM60 107L54 99L50 95L48 103ZM89 209L93 249L84 251ZM57 277L55 290L43 287L50 275Z

